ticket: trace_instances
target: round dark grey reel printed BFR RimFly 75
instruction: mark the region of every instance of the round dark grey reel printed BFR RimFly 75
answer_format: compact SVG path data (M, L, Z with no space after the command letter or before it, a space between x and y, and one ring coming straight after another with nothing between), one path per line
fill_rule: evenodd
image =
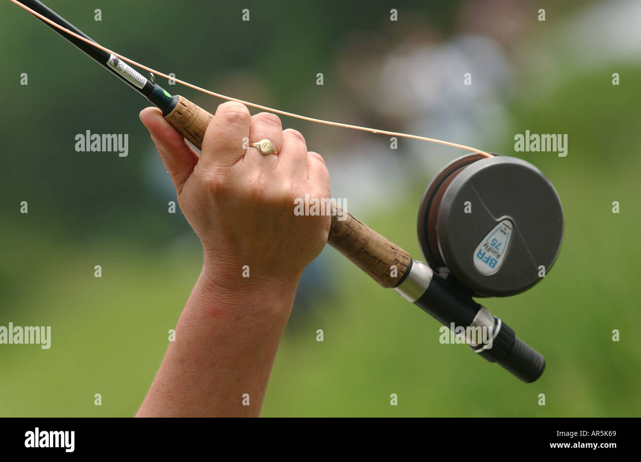
M474 296L506 297L549 272L563 238L563 210L550 181L513 157L468 154L429 183L418 235L426 263Z

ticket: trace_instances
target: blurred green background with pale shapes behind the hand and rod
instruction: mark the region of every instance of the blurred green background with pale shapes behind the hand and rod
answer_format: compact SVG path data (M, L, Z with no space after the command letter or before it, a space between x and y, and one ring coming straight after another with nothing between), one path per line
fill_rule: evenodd
M638 2L46 3L104 46L201 87L519 156L556 187L565 236L554 268L526 293L485 301L545 355L536 383L440 345L436 320L327 247L301 282L263 416L641 414ZM175 192L137 117L146 101L17 6L0 2L0 17L0 326L52 330L49 350L0 345L0 415L131 416L199 274L199 243L167 213ZM159 83L210 111L221 103ZM333 197L421 258L422 192L462 151L283 124L326 157ZM127 133L129 155L77 153L87 129ZM567 157L515 153L526 129L567 133Z

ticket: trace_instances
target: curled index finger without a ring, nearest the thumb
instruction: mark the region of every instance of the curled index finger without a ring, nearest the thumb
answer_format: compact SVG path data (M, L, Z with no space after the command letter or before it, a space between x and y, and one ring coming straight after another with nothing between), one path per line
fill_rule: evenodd
M245 154L243 138L249 138L251 117L244 104L228 101L218 106L204 134L201 159L205 167L231 167Z

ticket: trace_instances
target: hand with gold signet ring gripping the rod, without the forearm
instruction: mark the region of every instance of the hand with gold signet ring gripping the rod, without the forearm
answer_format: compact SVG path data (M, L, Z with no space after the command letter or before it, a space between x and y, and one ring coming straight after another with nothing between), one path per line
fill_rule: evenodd
M330 223L328 215L294 214L294 199L330 196L324 160L307 151L303 135L283 131L272 113L250 117L244 104L224 103L207 128L199 157L160 110L146 108L140 119L203 243L204 274L232 290L265 281L295 287L327 242ZM263 138L278 154L263 155L251 146ZM249 278L242 277L244 265Z

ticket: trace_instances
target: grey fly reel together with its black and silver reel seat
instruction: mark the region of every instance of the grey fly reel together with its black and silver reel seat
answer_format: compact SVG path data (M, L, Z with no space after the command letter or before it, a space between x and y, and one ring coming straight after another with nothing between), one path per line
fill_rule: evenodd
M418 235L427 264L410 261L394 290L450 327L479 356L524 382L537 380L545 369L543 356L472 297L515 295L552 267L563 237L563 211L549 180L517 158L458 158L429 183ZM479 337L481 331L487 334Z

